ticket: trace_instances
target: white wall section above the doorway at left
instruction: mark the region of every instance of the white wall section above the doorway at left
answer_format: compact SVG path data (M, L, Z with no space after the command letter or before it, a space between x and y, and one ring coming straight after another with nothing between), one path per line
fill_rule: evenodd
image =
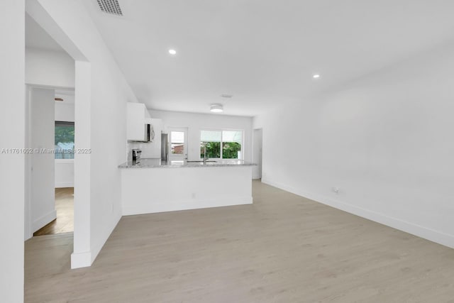
M74 87L74 59L65 52L26 48L26 83Z

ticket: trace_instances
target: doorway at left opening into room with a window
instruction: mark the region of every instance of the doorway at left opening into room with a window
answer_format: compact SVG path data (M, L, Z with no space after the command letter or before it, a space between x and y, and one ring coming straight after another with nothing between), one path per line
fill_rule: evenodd
M74 231L74 89L28 86L28 235Z

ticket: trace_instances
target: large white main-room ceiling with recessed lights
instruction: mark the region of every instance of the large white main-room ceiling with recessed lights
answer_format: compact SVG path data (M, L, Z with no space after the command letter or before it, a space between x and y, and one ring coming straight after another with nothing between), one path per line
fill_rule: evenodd
M161 110L255 116L454 38L451 0L118 0L123 17L85 1L138 99Z

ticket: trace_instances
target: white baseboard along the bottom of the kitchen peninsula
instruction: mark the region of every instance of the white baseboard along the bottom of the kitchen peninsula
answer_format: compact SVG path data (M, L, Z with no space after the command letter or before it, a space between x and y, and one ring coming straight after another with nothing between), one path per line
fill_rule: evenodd
M219 206L252 204L253 197L228 197L221 199L191 199L172 202L149 203L135 206L123 206L123 216L134 214L152 214L164 211L181 211L187 209L204 209ZM131 204L128 203L128 204Z

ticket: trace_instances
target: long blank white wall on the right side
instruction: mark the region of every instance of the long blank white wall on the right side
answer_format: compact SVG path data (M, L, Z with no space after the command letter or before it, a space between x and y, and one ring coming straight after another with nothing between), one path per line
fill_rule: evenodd
M259 116L262 181L454 248L453 72L454 43Z

